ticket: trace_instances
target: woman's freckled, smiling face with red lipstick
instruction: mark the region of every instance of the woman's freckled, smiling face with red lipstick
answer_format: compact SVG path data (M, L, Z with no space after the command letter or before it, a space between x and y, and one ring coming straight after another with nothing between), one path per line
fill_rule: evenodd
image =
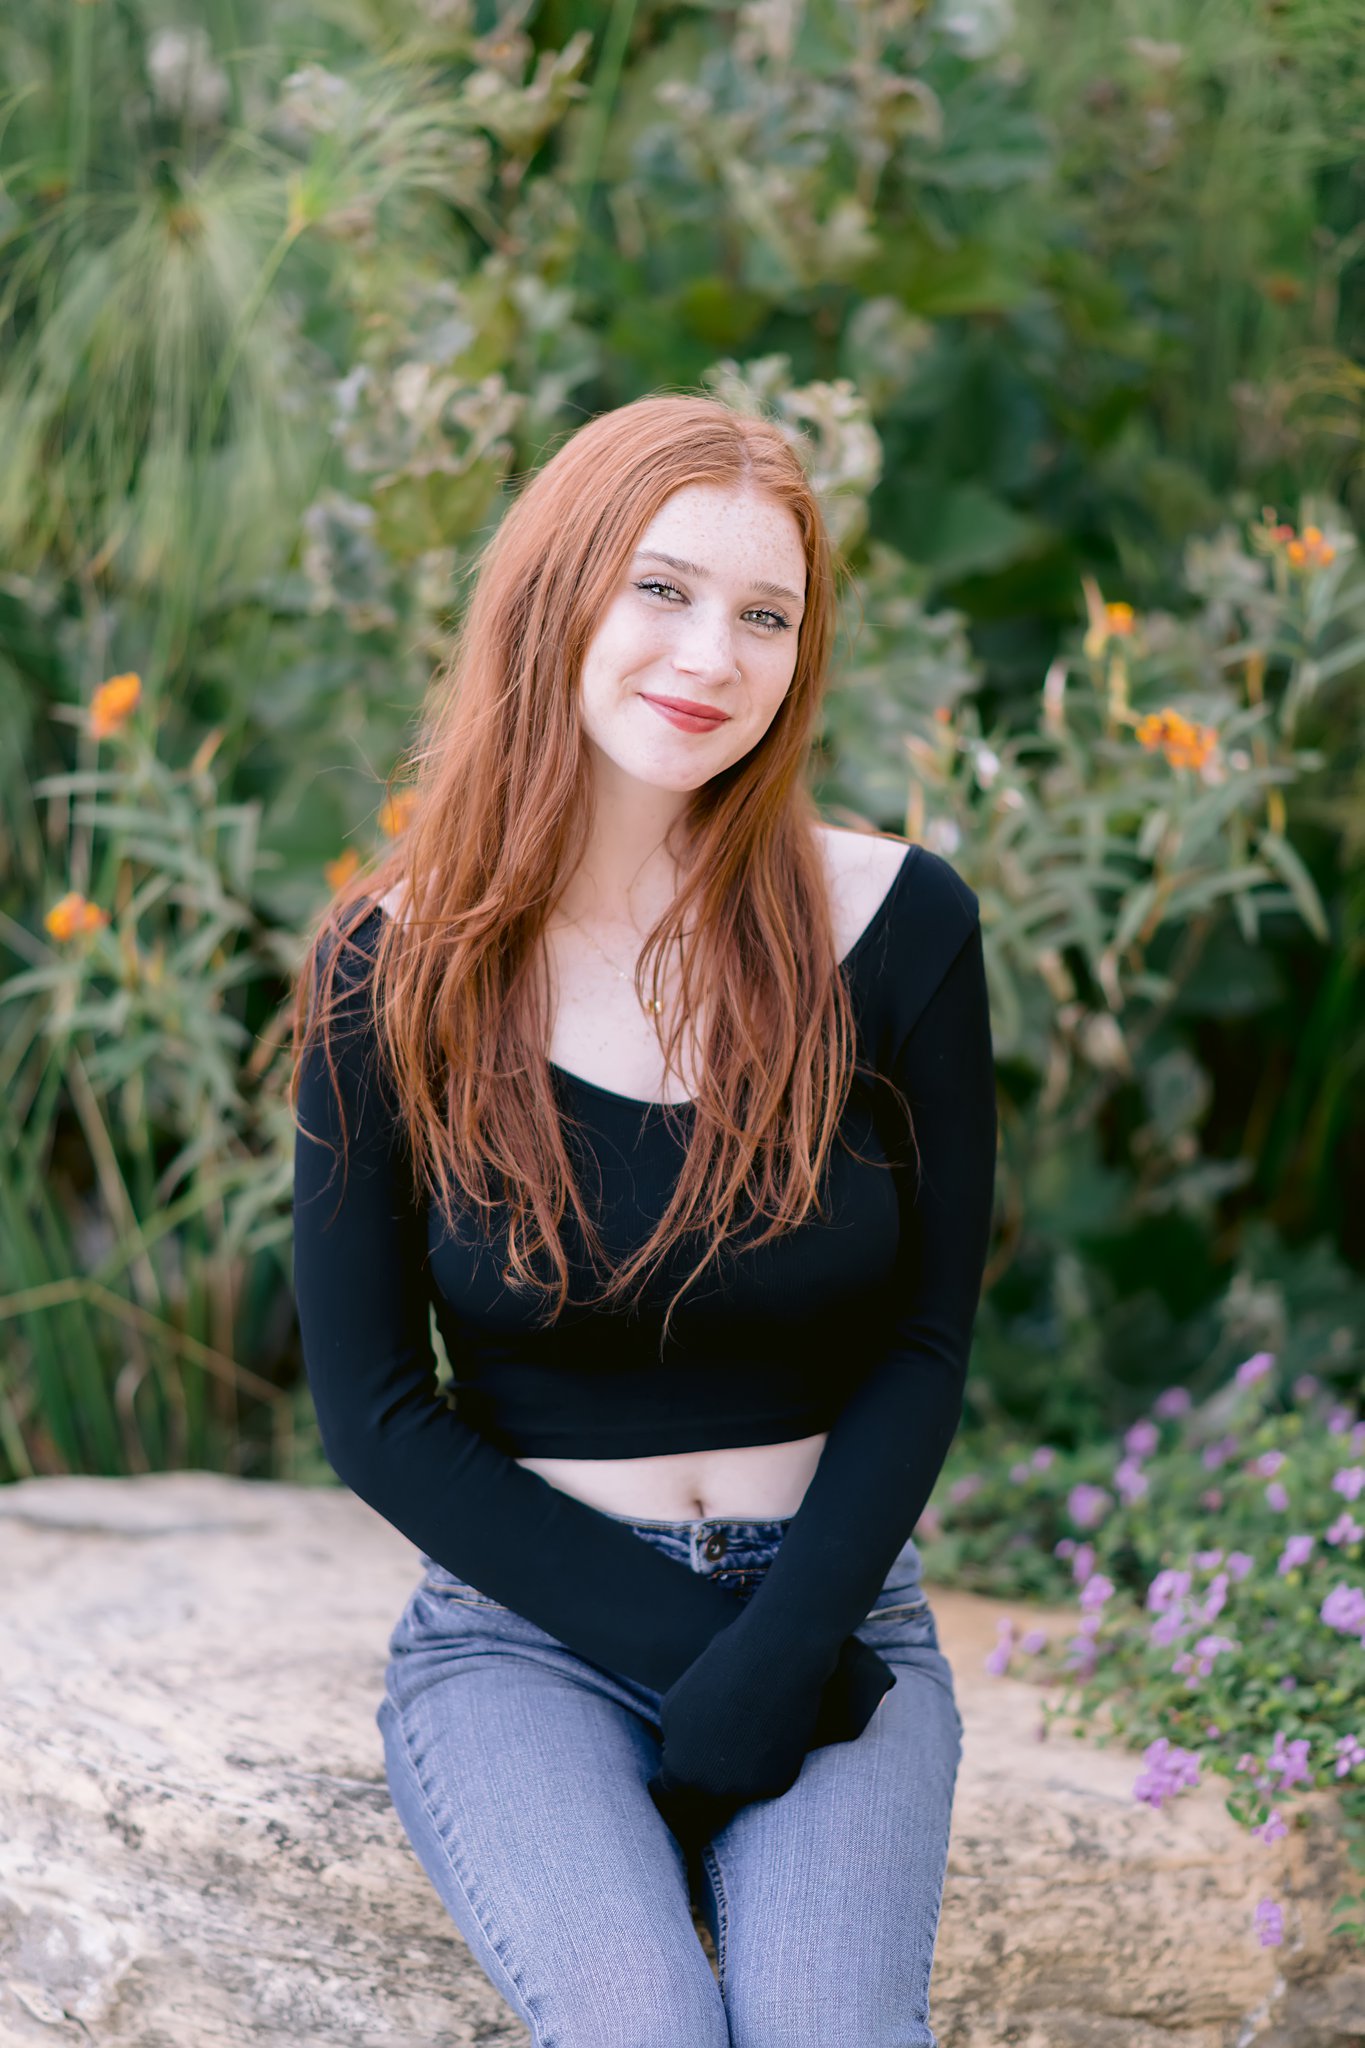
M579 713L596 766L681 793L743 760L792 682L804 592L786 506L712 483L673 492L583 655ZM659 696L726 717L675 721L651 702Z

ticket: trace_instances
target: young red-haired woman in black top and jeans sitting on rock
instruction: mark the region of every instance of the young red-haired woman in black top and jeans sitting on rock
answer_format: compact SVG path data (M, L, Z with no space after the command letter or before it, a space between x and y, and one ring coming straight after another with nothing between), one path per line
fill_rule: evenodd
M776 426L579 428L299 983L309 1384L424 1565L389 1786L546 2048L935 2040L962 1722L911 1532L995 1067L976 895L814 813L833 596Z

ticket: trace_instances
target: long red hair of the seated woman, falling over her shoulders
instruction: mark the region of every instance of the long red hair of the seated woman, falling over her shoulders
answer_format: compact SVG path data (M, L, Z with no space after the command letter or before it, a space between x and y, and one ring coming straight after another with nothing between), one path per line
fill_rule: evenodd
M587 844L591 770L575 705L583 653L655 512L690 483L749 487L788 506L804 545L806 608L792 682L761 741L690 797L679 891L641 950L636 991L659 987L663 961L681 961L679 1014L661 1047L681 1071L686 1020L704 1014L704 1069L673 1198L641 1249L610 1270L553 1094L542 932ZM784 430L700 395L643 397L598 416L522 487L481 551L454 651L397 770L409 821L336 893L307 948L293 1106L313 1038L336 1083L338 965L360 950L350 934L375 901L403 885L407 922L381 920L366 975L413 1184L450 1231L460 1206L505 1227L503 1282L555 1296L548 1321L567 1300L559 1221L569 1202L604 1272L600 1303L639 1294L677 1239L698 1233L700 1255L669 1300L663 1335L731 1229L745 1223L749 1243L767 1243L812 1206L823 1214L821 1182L855 1065L806 780L833 633L833 547ZM769 1227L751 1237L761 1217ZM546 1255L553 1276L536 1270Z

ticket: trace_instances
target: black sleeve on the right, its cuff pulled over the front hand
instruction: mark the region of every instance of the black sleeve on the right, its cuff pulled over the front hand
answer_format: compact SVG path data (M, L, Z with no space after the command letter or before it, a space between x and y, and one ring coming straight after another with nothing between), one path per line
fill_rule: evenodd
M704 1839L739 1804L794 1782L814 1745L802 1741L800 1712L782 1724L765 1710L767 1673L788 1673L798 1702L819 1690L839 1642L876 1604L962 1419L997 1151L976 918L886 1071L911 1104L921 1159L917 1192L913 1155L905 1167L892 1339L837 1415L753 1599L665 1694L651 1790L679 1837Z

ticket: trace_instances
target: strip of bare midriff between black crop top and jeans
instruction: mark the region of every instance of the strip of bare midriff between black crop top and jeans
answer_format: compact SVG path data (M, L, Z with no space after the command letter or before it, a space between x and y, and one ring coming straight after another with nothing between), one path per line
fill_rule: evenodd
M641 1522L784 1522L821 1462L825 1432L792 1444L677 1450L659 1458L518 1458L561 1493Z

